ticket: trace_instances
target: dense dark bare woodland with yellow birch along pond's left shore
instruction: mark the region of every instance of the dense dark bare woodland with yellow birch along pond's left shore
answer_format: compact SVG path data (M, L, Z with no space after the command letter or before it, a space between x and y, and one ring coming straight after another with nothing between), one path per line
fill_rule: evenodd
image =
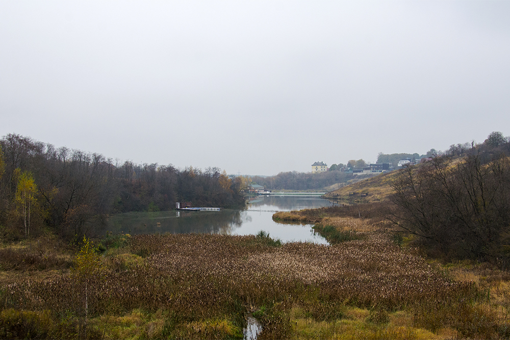
M115 164L97 153L10 134L0 140L0 232L29 237L44 228L64 238L94 233L109 214L244 203L242 182L217 168Z

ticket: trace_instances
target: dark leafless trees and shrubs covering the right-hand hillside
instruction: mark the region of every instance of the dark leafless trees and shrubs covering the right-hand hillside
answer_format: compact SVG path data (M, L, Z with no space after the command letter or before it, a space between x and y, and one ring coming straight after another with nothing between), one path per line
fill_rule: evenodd
M510 264L510 150L494 134L401 170L388 218L437 254Z

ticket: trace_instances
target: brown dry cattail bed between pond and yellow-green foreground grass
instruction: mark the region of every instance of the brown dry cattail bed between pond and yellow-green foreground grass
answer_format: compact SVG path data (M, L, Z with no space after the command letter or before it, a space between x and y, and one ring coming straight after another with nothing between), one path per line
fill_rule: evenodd
M171 319L171 311L177 319L173 328L166 328L169 334L200 338L204 332L221 337L222 329L235 333L242 324L239 313L267 306L265 320L276 333L266 336L287 337L293 334L287 314L293 306L314 323L327 324L342 319L346 306L398 310L438 301L457 304L476 294L471 283L447 279L437 266L400 249L384 232L337 246L270 247L254 236L188 234L135 236L129 247L131 254L107 256L108 269L88 283L91 315L100 320L111 315L112 323L124 322L123 330L104 325L111 336L146 334L139 328L149 322L162 334L161 321L130 312L136 308L149 314L167 311L165 320ZM49 309L55 317L66 311L84 313L83 282L70 275L20 280L2 291L3 308ZM122 321L125 313L134 321ZM95 324L104 322L90 327ZM372 328L360 334L391 333Z

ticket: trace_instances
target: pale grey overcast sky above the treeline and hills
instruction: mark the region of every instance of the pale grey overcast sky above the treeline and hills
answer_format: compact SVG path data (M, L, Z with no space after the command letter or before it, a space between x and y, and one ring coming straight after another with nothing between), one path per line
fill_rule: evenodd
M0 136L273 175L510 135L508 1L0 0Z

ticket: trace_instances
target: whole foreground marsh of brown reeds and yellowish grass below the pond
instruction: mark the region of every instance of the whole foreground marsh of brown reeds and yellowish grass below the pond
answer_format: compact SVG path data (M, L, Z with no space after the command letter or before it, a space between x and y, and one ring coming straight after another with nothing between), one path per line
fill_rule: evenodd
M242 338L248 312L260 339L510 335L504 273L430 264L371 220L324 221L317 230L349 237L118 235L103 254L4 247L16 280L0 277L0 338Z

